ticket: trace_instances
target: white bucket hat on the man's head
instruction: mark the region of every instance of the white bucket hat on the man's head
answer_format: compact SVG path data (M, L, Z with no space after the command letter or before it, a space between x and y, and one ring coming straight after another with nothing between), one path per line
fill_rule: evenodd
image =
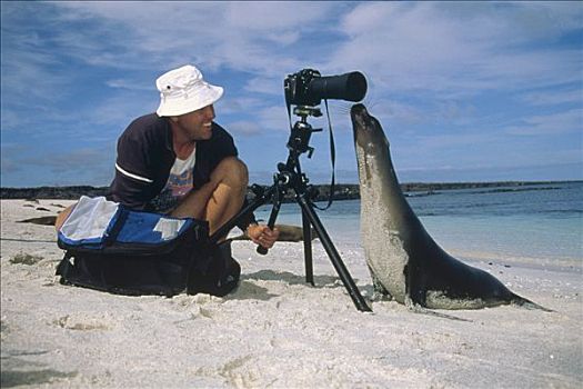
M195 111L214 103L223 94L221 87L204 81L200 70L192 64L160 76L155 86L160 91L160 107L155 113L160 117L175 117Z

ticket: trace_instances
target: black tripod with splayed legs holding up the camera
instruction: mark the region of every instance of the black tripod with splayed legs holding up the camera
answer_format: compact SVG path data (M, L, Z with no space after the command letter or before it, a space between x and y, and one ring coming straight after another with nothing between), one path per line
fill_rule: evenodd
M304 248L304 262L305 262L305 281L314 285L313 280L313 267L312 267L312 226L322 242L334 269L336 270L340 279L344 283L354 306L360 311L372 311L366 305L366 301L360 293L354 280L352 279L346 267L342 262L339 252L336 251L332 240L330 239L326 230L315 213L312 198L314 197L313 188L308 186L308 178L302 173L300 166L300 156L308 152L309 158L313 153L313 148L309 146L310 137L312 132L322 131L322 129L313 129L306 119L309 116L321 116L318 108L300 106L294 109L294 113L300 116L300 120L295 122L292 128L290 138L288 140L289 156L285 163L278 164L278 172L273 174L273 184L268 189L264 189L258 184L252 186L252 190L255 198L247 207L244 207L239 213L221 226L211 237L211 243L215 243L221 237L224 237L229 231L238 225L239 220L249 217L255 209L265 205L269 200L273 201L273 208L268 221L268 226L273 228L275 219L278 217L281 202L288 190L293 190L295 193L295 202L302 209L302 227L303 227L303 248ZM263 247L258 248L259 253L267 253L268 250Z

